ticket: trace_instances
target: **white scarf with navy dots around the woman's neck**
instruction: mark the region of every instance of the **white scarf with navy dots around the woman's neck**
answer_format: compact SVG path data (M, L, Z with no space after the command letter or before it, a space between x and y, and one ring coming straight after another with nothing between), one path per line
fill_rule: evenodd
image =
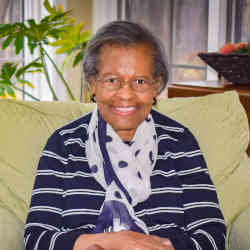
M131 230L148 234L133 207L151 194L150 176L157 156L152 116L137 128L125 144L96 108L89 124L86 152L95 179L106 190L95 233Z

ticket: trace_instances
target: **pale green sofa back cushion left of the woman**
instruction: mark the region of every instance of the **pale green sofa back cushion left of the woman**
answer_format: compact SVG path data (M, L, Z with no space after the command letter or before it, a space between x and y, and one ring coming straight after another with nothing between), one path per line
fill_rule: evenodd
M77 102L0 100L0 201L22 221L48 137L92 108Z

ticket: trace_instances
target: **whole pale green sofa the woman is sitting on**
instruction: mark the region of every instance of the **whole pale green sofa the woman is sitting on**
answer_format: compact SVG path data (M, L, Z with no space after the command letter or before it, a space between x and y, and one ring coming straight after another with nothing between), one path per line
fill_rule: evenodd
M0 249L24 249L36 166L50 134L95 104L0 100ZM225 216L228 250L250 249L249 127L238 94L160 100L155 107L193 132Z

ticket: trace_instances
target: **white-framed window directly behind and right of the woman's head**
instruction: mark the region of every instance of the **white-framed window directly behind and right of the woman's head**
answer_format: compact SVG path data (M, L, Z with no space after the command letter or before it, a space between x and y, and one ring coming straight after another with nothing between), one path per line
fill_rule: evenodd
M197 53L226 42L228 1L93 0L93 31L116 19L142 22L166 46L170 80L212 80L216 72Z

